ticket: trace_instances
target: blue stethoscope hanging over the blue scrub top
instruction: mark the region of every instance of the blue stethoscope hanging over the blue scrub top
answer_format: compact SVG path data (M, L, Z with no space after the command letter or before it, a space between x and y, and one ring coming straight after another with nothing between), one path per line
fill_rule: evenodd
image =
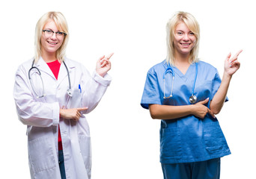
M171 83L171 95L169 96L165 96L165 76L168 72L171 72L172 75L172 83ZM193 83L193 87L192 87L192 95L189 97L189 102L190 104L195 104L195 102L197 101L197 97L194 95L194 90L195 90L195 82L196 82L196 78L198 77L198 63L195 63L195 78L194 78L194 83ZM165 73L163 75L163 81L164 81L164 87L163 87L163 91L164 91L164 99L166 98L171 98L172 97L172 92L174 89L174 70L171 68L170 64L168 64L168 68L165 69Z

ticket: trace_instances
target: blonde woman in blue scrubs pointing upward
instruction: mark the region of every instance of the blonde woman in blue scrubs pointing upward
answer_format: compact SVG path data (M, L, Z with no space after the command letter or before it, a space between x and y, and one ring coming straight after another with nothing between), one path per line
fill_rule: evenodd
M198 60L200 29L190 13L177 12L167 24L166 60L147 72L141 106L162 119L160 162L165 179L220 176L220 157L231 154L215 114L222 110L232 75L240 68L228 54L221 78Z

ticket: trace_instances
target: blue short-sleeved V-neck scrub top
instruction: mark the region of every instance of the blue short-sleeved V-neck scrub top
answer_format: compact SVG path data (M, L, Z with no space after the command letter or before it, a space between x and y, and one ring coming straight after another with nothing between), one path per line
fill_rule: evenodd
M189 66L183 75L179 69L174 70L174 81L171 73L165 76L165 96L173 97L164 99L163 76L168 68L166 61L156 64L147 72L144 92L141 98L141 107L148 109L149 104L161 105L190 105L189 97L195 80L195 63ZM213 99L221 79L216 68L203 61L198 62L198 76L195 82L194 95L198 101L206 98ZM228 98L226 98L228 101ZM207 107L209 107L208 102ZM231 154L225 136L217 119L207 114L204 119L189 115L179 119L161 120L160 128L160 162L161 163L191 163L210 160Z

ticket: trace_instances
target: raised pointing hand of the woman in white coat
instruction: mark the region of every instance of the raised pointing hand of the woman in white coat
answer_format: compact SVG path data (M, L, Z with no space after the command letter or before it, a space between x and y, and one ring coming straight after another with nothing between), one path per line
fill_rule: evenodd
M105 57L100 57L100 59L96 63L96 72L100 76L104 77L107 72L109 72L109 69L111 69L111 62L110 62L110 57L112 57L114 53L109 54L109 56Z

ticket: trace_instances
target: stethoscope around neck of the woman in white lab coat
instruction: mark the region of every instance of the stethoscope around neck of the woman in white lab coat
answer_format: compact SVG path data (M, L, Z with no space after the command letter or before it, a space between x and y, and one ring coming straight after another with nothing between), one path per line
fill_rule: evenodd
M64 66L65 66L66 69L67 69L66 63L65 63L64 61L63 61L63 63L64 63ZM34 88L34 84L32 83L32 81L31 81L31 76L30 76L30 72L31 72L32 69L36 69L36 70L37 70L37 72L38 72L38 74L39 74L39 76L40 76L40 79L41 79L41 81L42 81L42 85L43 85L43 78L42 78L42 76L41 76L41 72L40 72L40 70L39 70L36 66L34 66L34 60L33 60L33 63L32 63L31 68L28 70L28 79L29 79L29 81L30 81L32 90L33 90L34 93L37 95L37 98L43 98L44 96L46 96L46 94L44 93L44 85L43 85L43 89L42 89L42 90L43 90L43 94L42 94L42 95L38 95L37 92L36 92L36 90L34 90L34 89L35 89L35 88ZM70 72L68 71L68 69L67 69L67 77L68 77L68 84L69 84L69 89L67 89L67 95L69 95L70 97L72 97L72 93L71 93L71 82L70 82Z

